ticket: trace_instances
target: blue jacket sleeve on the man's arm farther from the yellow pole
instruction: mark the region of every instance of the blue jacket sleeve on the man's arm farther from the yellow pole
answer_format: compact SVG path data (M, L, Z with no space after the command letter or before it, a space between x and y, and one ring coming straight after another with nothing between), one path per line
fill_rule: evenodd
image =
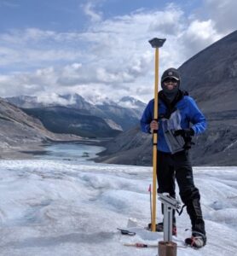
M195 134L200 134L206 129L206 120L205 116L199 110L196 102L191 97L189 98L189 119L193 126L191 127L194 130Z

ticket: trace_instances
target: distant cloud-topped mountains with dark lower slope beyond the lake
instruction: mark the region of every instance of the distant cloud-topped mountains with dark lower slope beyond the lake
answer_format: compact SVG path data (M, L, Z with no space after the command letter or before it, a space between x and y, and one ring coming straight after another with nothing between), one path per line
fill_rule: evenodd
M145 105L132 97L123 98L120 104L109 99L92 104L78 94L58 96L55 101L48 102L35 96L15 96L6 100L40 119L49 131L82 137L114 137L136 126Z

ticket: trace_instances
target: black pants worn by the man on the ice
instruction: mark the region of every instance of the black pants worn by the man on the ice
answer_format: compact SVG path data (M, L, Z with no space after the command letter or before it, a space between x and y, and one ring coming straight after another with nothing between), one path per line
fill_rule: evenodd
M176 154L158 151L157 162L158 192L166 192L172 197L176 197L176 179L182 202L187 206L192 231L205 235L205 223L199 202L199 189L194 186L193 169L188 157L188 150ZM173 220L175 222L175 216Z

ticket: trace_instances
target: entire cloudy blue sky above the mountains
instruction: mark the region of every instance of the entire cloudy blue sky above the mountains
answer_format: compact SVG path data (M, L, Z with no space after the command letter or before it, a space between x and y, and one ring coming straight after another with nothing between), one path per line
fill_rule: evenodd
M236 30L236 0L0 0L0 96L153 97L159 73Z

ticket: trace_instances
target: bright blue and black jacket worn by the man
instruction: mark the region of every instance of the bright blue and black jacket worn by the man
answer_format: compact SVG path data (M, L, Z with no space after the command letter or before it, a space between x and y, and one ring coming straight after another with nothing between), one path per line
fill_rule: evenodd
M148 102L142 114L142 131L150 133L150 123L153 120L154 100ZM159 91L159 131L158 131L158 150L171 153L171 147L165 137L166 131L176 131L180 129L192 128L194 135L205 131L205 116L199 110L197 104L186 91L179 90L173 102L169 102L163 90ZM192 124L192 125L190 125Z

